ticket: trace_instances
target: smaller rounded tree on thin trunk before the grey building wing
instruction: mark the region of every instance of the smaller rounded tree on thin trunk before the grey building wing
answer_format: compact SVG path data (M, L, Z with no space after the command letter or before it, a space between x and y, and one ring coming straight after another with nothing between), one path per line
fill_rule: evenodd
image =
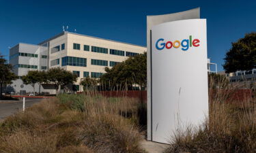
M30 84L33 87L33 95L35 96L35 84L43 82L44 76L38 70L28 71L27 75L23 75L21 80L24 84Z

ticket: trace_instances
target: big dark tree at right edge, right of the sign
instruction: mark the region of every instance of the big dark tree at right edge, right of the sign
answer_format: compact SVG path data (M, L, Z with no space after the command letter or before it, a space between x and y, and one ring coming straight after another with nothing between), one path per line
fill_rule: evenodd
M232 43L225 55L223 68L227 73L248 71L256 67L256 33L248 33L244 38Z

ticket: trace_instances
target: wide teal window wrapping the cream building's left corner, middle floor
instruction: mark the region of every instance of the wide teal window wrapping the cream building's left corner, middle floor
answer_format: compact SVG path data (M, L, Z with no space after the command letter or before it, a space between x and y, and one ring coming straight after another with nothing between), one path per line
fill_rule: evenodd
M78 66L78 67L86 67L87 66L87 59L86 58L79 58L79 57L72 57L66 56L61 58L61 66Z

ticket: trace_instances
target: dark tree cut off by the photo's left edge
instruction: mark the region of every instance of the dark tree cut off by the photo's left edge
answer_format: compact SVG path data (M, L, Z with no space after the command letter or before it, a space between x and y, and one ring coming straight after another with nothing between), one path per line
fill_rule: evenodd
M12 80L16 80L18 78L17 75L15 75L12 72L12 65L7 64L7 61L5 58L3 58L3 55L0 53L0 97L2 97L2 88L5 84L12 84Z

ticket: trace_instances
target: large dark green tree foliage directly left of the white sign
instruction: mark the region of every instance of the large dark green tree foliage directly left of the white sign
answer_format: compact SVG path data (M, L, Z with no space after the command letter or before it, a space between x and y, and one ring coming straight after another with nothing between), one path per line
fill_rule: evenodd
M111 90L122 90L133 84L139 84L141 88L145 88L147 86L147 54L131 56L112 69L106 67L105 71L106 73L100 78L100 84Z

